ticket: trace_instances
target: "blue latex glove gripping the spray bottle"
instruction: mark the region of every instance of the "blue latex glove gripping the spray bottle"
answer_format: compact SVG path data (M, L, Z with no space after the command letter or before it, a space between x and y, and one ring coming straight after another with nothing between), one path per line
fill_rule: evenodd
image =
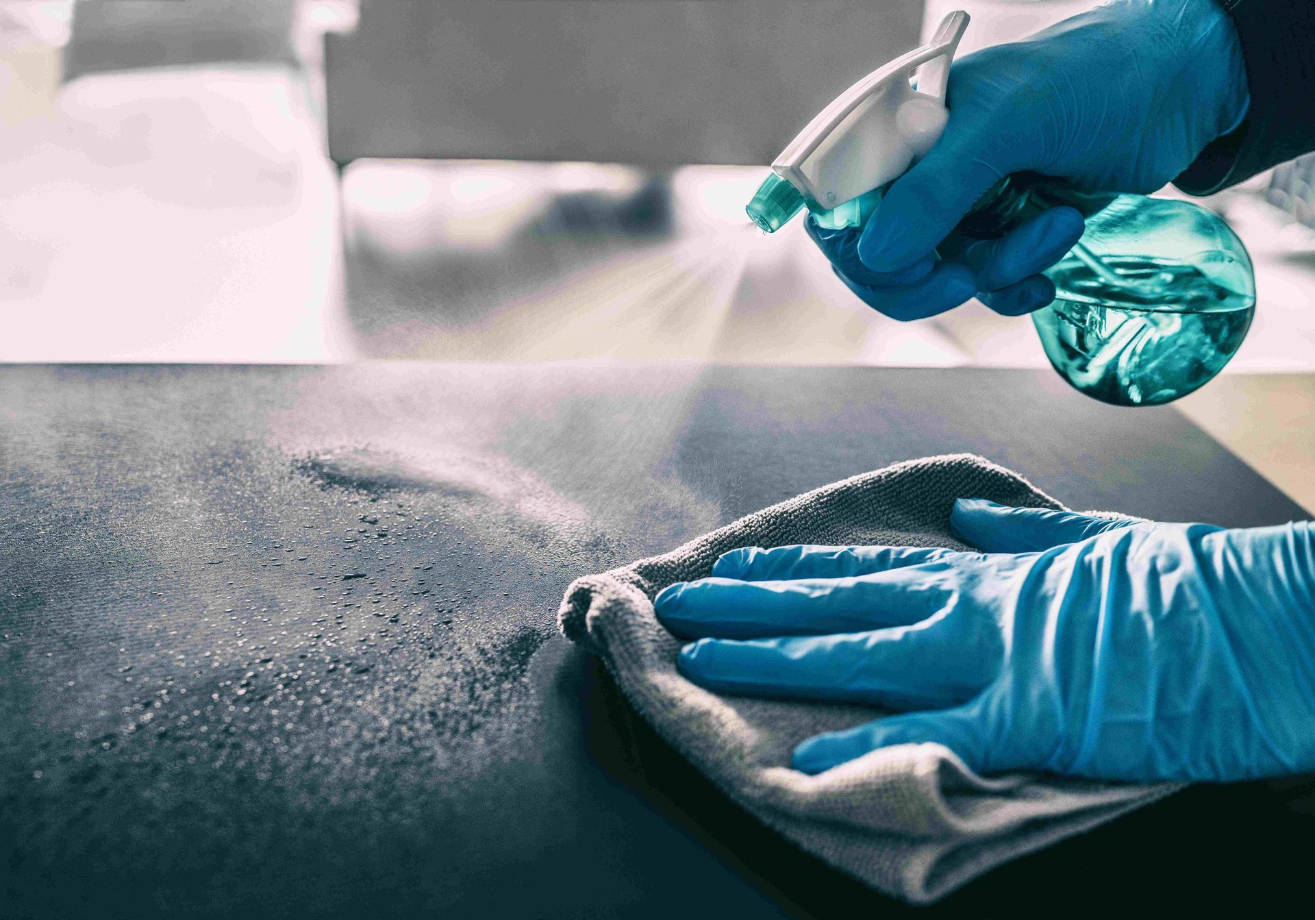
M1031 171L1091 192L1149 193L1181 174L1249 104L1236 29L1215 0L1122 0L1027 41L982 49L949 72L949 121L892 183L863 228L809 236L860 299L897 320L974 294L997 312L1055 297L1038 272L1082 236L1053 208L1002 240L935 247L1001 176Z

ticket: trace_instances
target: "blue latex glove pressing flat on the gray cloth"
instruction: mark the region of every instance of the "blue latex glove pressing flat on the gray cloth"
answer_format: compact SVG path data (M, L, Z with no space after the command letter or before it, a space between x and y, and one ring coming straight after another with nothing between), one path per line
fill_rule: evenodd
M903 711L821 773L934 741L980 773L1233 780L1315 770L1315 525L1127 524L955 504L981 553L740 549L655 603L688 679Z

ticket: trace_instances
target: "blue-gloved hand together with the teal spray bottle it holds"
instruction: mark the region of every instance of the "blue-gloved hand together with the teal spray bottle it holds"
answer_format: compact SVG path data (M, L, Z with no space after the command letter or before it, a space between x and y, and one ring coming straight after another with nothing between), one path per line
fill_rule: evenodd
M1162 187L1245 113L1226 13L1202 0L1098 8L965 58L947 109L967 25L951 13L930 43L836 97L772 165L750 216L771 233L807 208L836 274L897 319L974 294L1035 311L1051 363L1095 399L1157 405L1197 390L1251 325L1251 259L1206 208L1126 192ZM1185 68L1193 54L1208 66Z

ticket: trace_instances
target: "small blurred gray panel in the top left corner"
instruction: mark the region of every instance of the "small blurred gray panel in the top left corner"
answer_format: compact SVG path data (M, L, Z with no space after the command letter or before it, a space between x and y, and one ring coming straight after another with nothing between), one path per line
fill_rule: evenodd
M84 74L214 62L296 63L296 0L79 3L64 80Z

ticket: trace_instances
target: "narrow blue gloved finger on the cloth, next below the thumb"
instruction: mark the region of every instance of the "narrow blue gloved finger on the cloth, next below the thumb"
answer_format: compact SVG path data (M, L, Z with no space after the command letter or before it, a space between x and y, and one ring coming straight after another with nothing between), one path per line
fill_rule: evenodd
M713 565L714 578L769 582L792 578L848 578L888 569L953 561L952 549L920 546L743 546L722 553Z

